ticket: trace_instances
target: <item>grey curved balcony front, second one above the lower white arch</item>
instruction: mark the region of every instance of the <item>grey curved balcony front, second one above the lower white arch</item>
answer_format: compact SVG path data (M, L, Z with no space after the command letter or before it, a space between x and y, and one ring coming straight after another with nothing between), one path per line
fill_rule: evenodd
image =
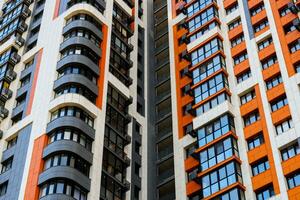
M56 70L59 71L63 69L65 66L76 65L76 64L83 65L84 67L89 68L98 76L100 74L99 66L95 64L91 59L89 59L84 55L75 55L75 54L68 55L62 58L60 61L58 61Z

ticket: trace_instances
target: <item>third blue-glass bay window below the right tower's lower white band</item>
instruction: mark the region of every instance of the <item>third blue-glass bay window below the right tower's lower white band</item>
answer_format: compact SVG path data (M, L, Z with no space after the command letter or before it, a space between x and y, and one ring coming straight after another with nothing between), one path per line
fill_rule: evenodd
M203 197L208 197L238 181L241 181L240 166L230 162L202 177Z

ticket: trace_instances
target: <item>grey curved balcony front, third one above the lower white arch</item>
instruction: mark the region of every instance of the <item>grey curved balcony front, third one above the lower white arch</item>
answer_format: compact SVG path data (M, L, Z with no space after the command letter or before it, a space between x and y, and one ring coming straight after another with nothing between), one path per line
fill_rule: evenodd
M63 51L66 48L73 46L73 45L85 46L85 47L89 48L90 50L92 50L98 56L101 56L100 47L85 37L72 37L72 38L67 39L66 41L61 43L60 51Z

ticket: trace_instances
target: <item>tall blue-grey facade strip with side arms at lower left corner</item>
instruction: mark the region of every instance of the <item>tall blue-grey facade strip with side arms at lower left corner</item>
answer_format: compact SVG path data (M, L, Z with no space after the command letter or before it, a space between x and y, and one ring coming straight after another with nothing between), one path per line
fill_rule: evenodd
M9 171L0 175L0 184L3 183L2 181L8 180L7 191L6 195L4 196L4 199L18 199L22 183L22 177L24 173L24 165L26 162L27 150L29 146L31 127L32 125L30 124L19 132L18 141L14 147L15 149L13 154L12 167L11 169L9 169ZM9 152L6 153L6 156L8 156Z

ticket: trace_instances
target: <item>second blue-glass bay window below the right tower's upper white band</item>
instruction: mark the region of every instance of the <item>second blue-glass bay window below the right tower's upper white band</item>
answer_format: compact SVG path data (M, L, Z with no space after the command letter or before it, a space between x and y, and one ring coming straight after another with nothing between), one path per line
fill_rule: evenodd
M193 71L193 83L196 84L221 68L225 68L225 60L221 55L208 60Z

